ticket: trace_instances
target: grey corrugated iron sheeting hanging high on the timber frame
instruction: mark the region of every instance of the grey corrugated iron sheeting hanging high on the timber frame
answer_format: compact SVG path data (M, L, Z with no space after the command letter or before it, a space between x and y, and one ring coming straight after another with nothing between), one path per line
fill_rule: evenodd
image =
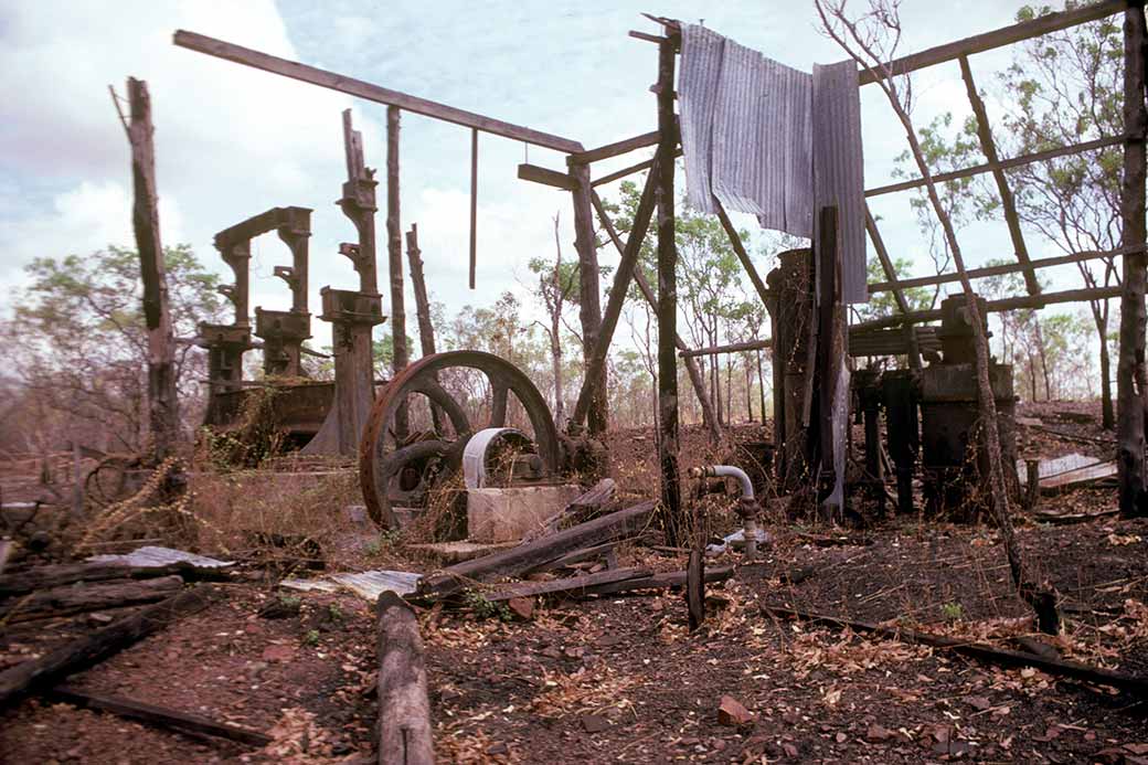
M864 168L856 68L810 75L704 26L682 32L678 79L687 200L712 196L762 227L813 237L815 210L838 207L841 295L867 302Z

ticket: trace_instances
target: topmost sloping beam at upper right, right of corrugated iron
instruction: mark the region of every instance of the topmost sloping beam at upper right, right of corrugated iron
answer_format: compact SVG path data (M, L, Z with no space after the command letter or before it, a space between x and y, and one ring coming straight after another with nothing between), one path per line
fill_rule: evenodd
M910 71L924 69L925 67L953 61L962 55L968 56L974 53L984 53L985 51L992 51L993 48L1048 34L1049 32L1069 29L1077 24L1106 18L1124 10L1126 7L1126 0L1106 0L1104 2L1097 2L1096 5L1085 6L1075 10L1046 14L1032 21L1002 26L990 32L983 32L962 40L946 42L945 45L938 45L907 56L901 56L900 59L894 59L883 64L883 69L893 76L905 75ZM883 71L861 71L859 74L861 85L869 85L879 79L884 79Z

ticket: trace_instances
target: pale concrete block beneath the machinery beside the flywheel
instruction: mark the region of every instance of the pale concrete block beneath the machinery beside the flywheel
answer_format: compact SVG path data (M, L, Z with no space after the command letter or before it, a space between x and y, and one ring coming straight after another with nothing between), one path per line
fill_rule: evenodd
M569 485L467 489L467 538L487 544L517 542L581 494Z

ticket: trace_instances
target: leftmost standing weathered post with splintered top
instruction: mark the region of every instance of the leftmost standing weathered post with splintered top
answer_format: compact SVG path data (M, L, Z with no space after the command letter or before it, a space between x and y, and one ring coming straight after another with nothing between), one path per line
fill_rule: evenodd
M176 396L176 340L168 306L168 278L160 241L160 211L155 191L155 144L152 96L147 83L127 78L131 122L127 141L132 147L132 227L144 280L144 320L147 325L148 426L153 458L163 462L179 441L179 400Z

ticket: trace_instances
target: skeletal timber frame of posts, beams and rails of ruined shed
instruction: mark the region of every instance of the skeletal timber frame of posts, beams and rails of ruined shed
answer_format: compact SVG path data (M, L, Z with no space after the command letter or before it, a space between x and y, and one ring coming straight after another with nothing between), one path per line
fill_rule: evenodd
M1044 150L1025 156L1001 159L991 132L984 103L976 91L969 56L985 51L1027 40L1048 32L1076 26L1096 21L1117 13L1125 14L1125 132L1123 136L1102 138L1075 146ZM565 172L533 164L521 164L519 178L568 191L574 207L574 227L579 253L581 288L585 299L581 302L581 323L583 330L583 353L587 363L587 374L582 391L574 410L573 424L588 420L591 434L600 433L606 426L605 411L605 360L608 353L613 332L621 311L621 304L628 292L630 279L637 276L639 287L646 299L657 304L659 343L658 343L658 400L659 400L659 463L661 465L661 502L667 518L678 517L678 468L677 468L677 354L690 357L713 353L729 353L769 347L769 340L754 343L734 343L716 348L689 350L676 333L677 295L675 265L677 253L674 244L674 160L681 155L677 119L674 114L674 70L681 42L680 24L669 18L647 16L661 25L664 34L650 34L631 31L636 39L654 42L658 46L658 79L651 88L657 99L658 130L643 133L605 146L587 149L580 142L540 132L529 128L513 125L483 115L464 111L442 103L428 101L397 91L383 88L363 80L344 77L326 70L308 67L297 62L271 56L241 46L215 40L193 32L176 33L176 45L201 53L218 56L255 67L273 74L292 77L302 82L328 87L378 103L385 103L395 109L408 109L437 119L452 122L472 130L472 227L471 227L471 286L474 286L475 260L475 198L478 167L478 133L488 132L503 138L521 140L563 152L567 155ZM1122 507L1137 507L1148 512L1148 489L1145 478L1145 419L1148 412L1146 403L1145 372L1145 130L1148 126L1148 115L1145 114L1145 22L1142 0L1104 0L1093 6L1064 13L1054 13L1031 21L1013 24L963 40L948 42L920 53L897 59L887 64L889 71L902 75L948 61L957 61L970 106L977 115L982 150L987 162L972 168L965 168L948 173L934 176L934 181L968 178L992 172L1001 194L1003 216L1009 227L1016 264L975 269L969 272L971 278L983 278L999 273L1021 272L1024 275L1027 295L1011 298L990 303L990 310L1010 310L1013 308L1039 308L1057 302L1071 302L1089 299L1122 298L1120 361L1119 361L1119 405L1120 405L1120 470L1122 470ZM860 74L860 84L876 82L879 75ZM397 118L395 119L397 128ZM397 133L397 130L396 130ZM397 145L397 137L396 137ZM1008 187L1004 170L1023 164L1046 161L1057 156L1078 154L1108 146L1123 145L1125 148L1125 186L1124 186L1124 238L1123 246L1109 253L1077 253L1062 257L1033 260L1022 235L1019 219ZM590 165L594 162L616 157L628 152L657 146L652 160L638 162L623 170L591 179ZM397 164L397 157L396 157ZM621 242L613 230L605 210L594 192L596 186L611 183L642 170L651 170L646 180L638 212L629 237ZM910 179L866 191L866 196L878 196L899 191L907 191L924 185L923 180ZM397 208L397 203L395 204ZM622 262L614 275L613 289L605 312L598 304L598 268L597 242L594 227L594 210L597 208L603 226L611 233L619 248ZM634 268L637 253L645 239L651 221L657 215L658 230L658 292L651 294L649 285L644 285L641 273ZM397 215L396 215L397 217ZM773 295L753 268L745 248L730 223L724 210L719 217L730 237L734 249L743 266L750 275L754 289L767 306ZM893 268L892 258L884 246L876 221L867 216L867 230L874 242L874 248L882 263L886 281L869 285L870 293L891 291L894 293L899 315L889 319L855 324L851 333L859 331L877 331L886 327L906 326L939 318L938 311L912 311L905 298L905 289L939 285L956 280L955 275L939 275L917 279L899 279ZM389 222L388 222L389 223ZM397 221L395 222L397 225ZM1095 257L1122 255L1124 260L1124 278L1120 287L1075 289L1058 293L1042 293L1035 277L1041 268L1079 263ZM393 284L391 288L395 289ZM907 332L910 364L920 365L920 332ZM869 347L877 347L870 345Z

